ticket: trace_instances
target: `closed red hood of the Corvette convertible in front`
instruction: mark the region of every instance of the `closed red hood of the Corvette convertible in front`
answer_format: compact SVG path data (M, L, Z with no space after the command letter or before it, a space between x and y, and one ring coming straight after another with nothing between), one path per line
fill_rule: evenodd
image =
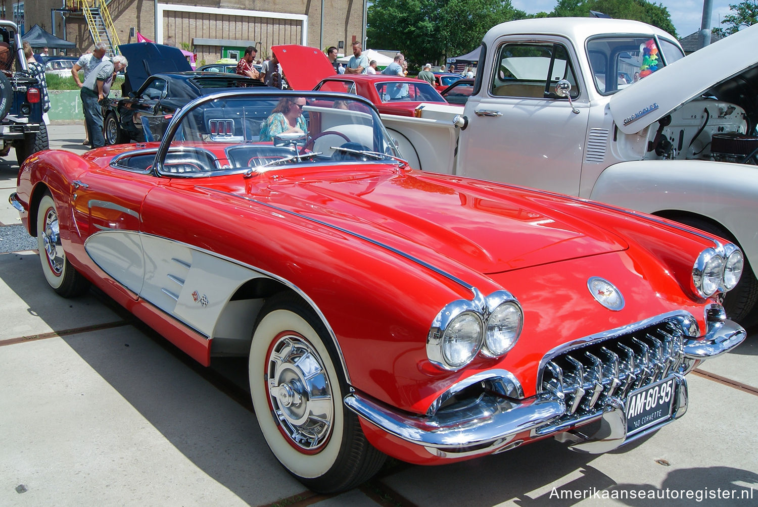
M547 193L503 191L493 183L418 171L397 174L394 167L384 174L339 175L280 175L267 182L268 200L432 264L442 255L481 273L627 247L582 218L587 205Z

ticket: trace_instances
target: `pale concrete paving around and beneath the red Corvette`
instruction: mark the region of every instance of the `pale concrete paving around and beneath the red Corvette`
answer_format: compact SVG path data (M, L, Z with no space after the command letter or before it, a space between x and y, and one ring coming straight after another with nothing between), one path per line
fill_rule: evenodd
M50 136L85 149L80 125ZM49 289L8 204L13 155L0 159L0 505L758 505L755 328L688 376L684 418L626 448L545 440L455 465L393 461L340 495L305 490L262 438L245 361L202 368L102 293Z

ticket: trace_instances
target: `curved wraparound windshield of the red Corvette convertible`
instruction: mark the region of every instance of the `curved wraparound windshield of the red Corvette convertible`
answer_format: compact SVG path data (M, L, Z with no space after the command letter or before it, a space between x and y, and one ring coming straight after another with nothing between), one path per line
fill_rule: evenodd
M374 109L344 96L228 92L198 99L170 125L168 120L152 117L143 126L149 140L167 136L158 170L172 176L265 171L283 164L394 163L400 156Z

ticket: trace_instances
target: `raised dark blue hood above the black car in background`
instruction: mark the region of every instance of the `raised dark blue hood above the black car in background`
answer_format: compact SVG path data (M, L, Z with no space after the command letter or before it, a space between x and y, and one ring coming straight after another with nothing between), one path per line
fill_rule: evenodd
M126 80L121 88L124 95L139 89L152 74L193 70L181 49L171 45L134 42L121 44L118 50L129 61Z

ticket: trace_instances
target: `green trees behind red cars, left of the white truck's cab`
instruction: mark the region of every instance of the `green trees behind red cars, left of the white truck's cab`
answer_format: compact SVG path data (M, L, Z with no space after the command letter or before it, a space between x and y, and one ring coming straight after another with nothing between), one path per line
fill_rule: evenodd
M491 27L525 17L510 0L375 0L368 45L397 49L415 65L475 49Z

